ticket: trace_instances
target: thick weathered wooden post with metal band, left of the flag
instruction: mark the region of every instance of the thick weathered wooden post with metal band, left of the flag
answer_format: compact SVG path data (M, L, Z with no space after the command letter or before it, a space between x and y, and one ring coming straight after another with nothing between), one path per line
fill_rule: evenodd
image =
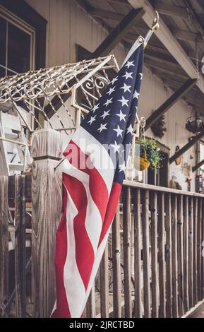
M32 136L32 267L34 316L49 317L55 301L54 254L61 218L61 135L53 129Z

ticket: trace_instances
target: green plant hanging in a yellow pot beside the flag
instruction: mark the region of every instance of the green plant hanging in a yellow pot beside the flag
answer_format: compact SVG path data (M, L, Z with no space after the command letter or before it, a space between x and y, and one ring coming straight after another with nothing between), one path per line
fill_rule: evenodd
M140 170L146 170L148 167L152 170L161 167L162 155L155 139L139 138L136 144L140 146L140 156L134 160L135 167L140 166Z

